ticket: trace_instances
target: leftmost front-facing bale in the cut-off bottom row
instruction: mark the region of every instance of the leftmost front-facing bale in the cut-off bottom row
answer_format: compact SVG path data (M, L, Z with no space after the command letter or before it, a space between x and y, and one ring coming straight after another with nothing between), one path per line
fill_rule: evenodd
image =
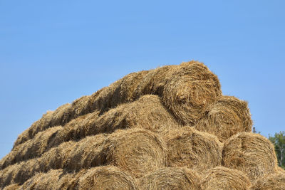
M88 169L78 182L78 189L138 189L132 176L118 167L105 166Z

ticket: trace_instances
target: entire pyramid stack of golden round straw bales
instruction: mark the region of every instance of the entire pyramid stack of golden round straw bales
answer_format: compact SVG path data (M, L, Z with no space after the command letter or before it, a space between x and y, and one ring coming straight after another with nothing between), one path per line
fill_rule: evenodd
M130 73L49 111L0 161L1 189L285 189L247 102L203 63Z

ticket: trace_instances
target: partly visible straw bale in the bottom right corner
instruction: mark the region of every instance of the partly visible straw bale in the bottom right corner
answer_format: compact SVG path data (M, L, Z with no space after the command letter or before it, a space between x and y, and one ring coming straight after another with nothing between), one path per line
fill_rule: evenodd
M251 190L284 190L285 189L285 173L276 172L262 176L252 184Z

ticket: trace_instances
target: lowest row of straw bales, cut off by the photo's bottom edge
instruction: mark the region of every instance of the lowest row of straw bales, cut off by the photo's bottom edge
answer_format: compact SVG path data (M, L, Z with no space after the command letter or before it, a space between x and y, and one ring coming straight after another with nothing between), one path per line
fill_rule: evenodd
M284 189L285 172L275 171L250 183L247 175L236 169L215 167L202 173L186 167L166 167L152 171L139 179L118 167L104 166L67 173L62 169L38 173L21 186L11 184L11 189Z

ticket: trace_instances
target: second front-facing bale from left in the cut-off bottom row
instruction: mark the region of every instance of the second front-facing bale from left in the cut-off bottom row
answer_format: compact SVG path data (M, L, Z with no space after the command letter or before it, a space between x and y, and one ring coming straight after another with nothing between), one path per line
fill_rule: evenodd
M140 179L142 190L148 189L202 189L201 177L196 171L186 167L169 167L153 171Z

